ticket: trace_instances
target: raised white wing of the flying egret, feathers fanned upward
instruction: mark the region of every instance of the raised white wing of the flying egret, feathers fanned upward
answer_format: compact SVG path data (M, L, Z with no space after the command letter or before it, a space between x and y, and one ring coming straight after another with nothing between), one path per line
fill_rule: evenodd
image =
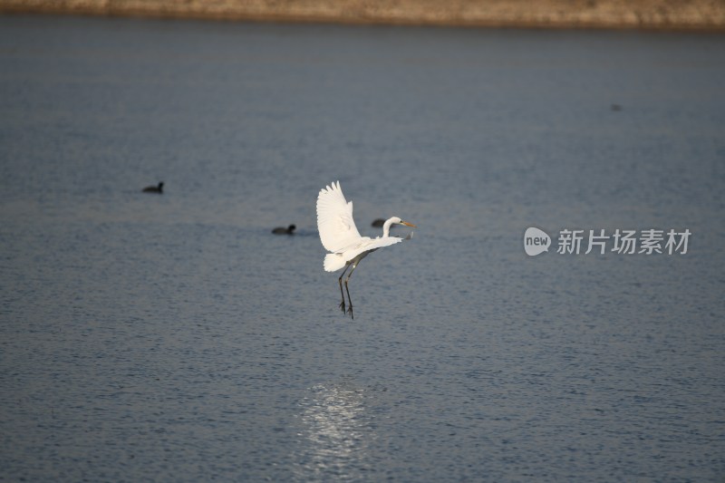
M360 232L353 220L353 202L345 199L340 181L321 189L317 195L317 229L323 246L331 252L360 242Z

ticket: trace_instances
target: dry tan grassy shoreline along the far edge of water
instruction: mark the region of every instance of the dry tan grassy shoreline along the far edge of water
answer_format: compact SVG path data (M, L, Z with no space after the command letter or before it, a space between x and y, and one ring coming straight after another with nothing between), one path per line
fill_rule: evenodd
M0 13L725 32L725 0L0 0Z

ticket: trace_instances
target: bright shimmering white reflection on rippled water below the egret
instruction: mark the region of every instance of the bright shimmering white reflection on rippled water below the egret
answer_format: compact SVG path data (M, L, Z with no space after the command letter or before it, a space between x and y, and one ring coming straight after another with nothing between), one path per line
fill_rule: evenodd
M369 451L375 440L365 391L352 382L317 384L300 403L304 432L300 478L348 479L371 469Z

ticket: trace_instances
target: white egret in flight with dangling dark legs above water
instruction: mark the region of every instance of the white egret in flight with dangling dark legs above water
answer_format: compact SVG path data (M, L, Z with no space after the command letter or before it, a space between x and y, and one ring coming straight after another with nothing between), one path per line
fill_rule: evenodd
M353 301L350 299L350 289L347 284L353 275L355 268L360 260L365 256L382 246L395 245L400 243L403 238L391 237L391 225L405 225L406 227L416 228L415 225L401 220L399 217L388 218L382 225L382 237L361 237L360 232L355 227L353 220L353 202L348 202L344 195L343 189L340 188L340 181L320 190L317 195L317 229L320 232L320 240L328 253L324 256L324 269L327 272L336 272L344 268L343 275L337 279L340 285L340 295L343 301L340 308L345 313L345 295L343 293L343 276L347 269L352 266L350 273L345 278L345 291L347 292L347 314L353 319ZM412 233L411 233L412 235ZM410 240L411 235L405 239Z

